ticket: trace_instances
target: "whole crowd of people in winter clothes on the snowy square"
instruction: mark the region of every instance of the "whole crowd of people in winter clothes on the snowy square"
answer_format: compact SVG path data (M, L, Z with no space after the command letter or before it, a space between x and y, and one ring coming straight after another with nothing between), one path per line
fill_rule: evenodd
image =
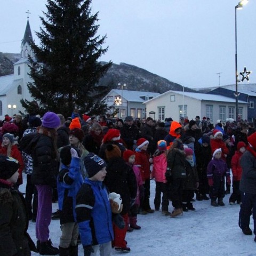
M5 256L85 256L130 252L126 233L140 230L138 214L162 211L181 217L195 200L210 207L241 206L239 227L256 242L256 133L254 125L227 118L123 119L81 115L65 118L5 116L0 131L0 251ZM233 179L230 179L230 171ZM19 192L27 175L25 198ZM156 182L150 206L150 180ZM195 199L194 199L195 197ZM59 209L52 213L52 203ZM173 209L170 210L169 204ZM60 220L58 247L50 239ZM36 223L36 244L27 233ZM2 255L2 254L1 254Z

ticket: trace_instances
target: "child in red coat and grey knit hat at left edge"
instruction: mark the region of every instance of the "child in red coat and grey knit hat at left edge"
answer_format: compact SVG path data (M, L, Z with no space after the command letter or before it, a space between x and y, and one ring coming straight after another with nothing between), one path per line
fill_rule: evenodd
M22 182L22 170L24 168L24 163L22 159L22 155L20 150L18 149L18 138L14 138L14 135L11 133L5 133L3 135L2 145L0 146L0 154L11 156L14 159L17 159L20 167L19 167L19 178L17 183L15 184L15 188L19 188Z

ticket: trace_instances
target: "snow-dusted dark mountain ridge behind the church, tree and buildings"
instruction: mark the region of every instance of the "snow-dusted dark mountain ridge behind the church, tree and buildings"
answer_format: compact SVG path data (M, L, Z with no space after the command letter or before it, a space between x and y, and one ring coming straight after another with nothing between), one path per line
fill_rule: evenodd
M19 53L0 52L0 76L13 74L13 63L19 59ZM100 86L110 85L112 89L120 89L118 83L125 83L125 89L131 91L164 93L169 90L183 90L183 86L180 84L173 83L145 69L122 62L119 65L113 63L107 74L99 81ZM187 87L185 87L185 91L194 92L194 90Z

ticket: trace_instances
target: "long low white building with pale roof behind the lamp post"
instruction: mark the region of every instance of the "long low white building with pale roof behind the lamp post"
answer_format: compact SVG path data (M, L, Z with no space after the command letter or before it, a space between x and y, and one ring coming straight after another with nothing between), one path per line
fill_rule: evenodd
M179 121L181 116L187 116L189 119L195 119L196 116L202 119L206 116L210 117L213 122L218 119L225 121L230 117L235 119L234 99L222 95L167 91L144 103L147 113L155 113L155 119L161 121L164 121L166 117ZM243 119L247 119L247 104L246 101L238 101L238 108ZM152 115L151 117L154 118Z

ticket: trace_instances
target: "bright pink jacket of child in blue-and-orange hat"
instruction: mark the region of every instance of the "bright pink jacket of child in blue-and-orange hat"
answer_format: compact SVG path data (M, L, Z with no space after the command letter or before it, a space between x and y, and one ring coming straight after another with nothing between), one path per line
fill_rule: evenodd
M151 178L154 179L157 182L164 182L166 183L167 180L165 178L165 172L167 168L167 160L165 153L154 156L154 165L153 165L153 171L151 173Z

